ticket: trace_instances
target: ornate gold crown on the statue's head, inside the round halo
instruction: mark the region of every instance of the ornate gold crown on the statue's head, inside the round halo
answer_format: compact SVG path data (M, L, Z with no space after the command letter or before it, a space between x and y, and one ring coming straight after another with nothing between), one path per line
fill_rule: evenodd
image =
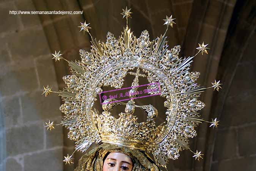
M133 91L135 89L131 89ZM130 95L130 97L132 97ZM111 115L113 106L125 104L115 102L116 99L107 99L104 101L102 115L96 114L97 127L102 142L126 146L140 150L150 150L149 143L153 142L155 137L160 134L160 127L155 126L155 118L157 118L157 109L151 105L137 106L133 99L126 104L125 113L121 112L119 118L116 119ZM113 102L113 103L111 103ZM146 122L137 122L137 117L133 115L135 107L139 107L147 114Z

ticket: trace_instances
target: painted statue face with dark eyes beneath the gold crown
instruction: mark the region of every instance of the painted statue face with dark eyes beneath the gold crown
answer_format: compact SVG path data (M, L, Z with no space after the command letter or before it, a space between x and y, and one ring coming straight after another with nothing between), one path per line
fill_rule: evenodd
M131 158L120 152L110 152L103 163L103 171L131 171Z

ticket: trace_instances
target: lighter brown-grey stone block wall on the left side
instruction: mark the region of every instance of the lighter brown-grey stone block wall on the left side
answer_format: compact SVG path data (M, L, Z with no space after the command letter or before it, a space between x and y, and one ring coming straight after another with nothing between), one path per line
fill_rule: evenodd
M9 14L17 9L35 11L31 0L0 2L0 170L61 171L62 128L44 127L60 122L60 98L41 95L43 85L58 90L51 51L39 17Z

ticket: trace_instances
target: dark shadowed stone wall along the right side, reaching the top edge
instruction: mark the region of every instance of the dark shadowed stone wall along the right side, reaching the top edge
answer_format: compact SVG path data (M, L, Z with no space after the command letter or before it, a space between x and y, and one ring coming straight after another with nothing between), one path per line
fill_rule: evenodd
M256 2L238 1L229 26L218 75L223 90L214 112L220 127L213 140L212 171L256 168ZM210 143L211 144L211 143Z

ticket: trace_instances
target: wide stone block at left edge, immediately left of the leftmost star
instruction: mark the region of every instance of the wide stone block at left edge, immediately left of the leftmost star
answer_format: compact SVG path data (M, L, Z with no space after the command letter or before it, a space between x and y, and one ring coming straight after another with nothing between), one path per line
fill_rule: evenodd
M38 88L35 68L22 68L0 75L2 96L14 95L17 92L30 91Z

